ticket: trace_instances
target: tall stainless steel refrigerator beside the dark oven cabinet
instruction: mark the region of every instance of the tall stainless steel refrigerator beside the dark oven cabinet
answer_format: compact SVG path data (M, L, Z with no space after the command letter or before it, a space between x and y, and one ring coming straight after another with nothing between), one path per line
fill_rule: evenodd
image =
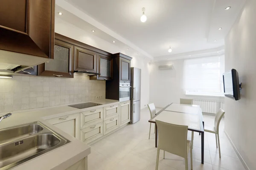
M141 69L131 67L131 124L140 120Z

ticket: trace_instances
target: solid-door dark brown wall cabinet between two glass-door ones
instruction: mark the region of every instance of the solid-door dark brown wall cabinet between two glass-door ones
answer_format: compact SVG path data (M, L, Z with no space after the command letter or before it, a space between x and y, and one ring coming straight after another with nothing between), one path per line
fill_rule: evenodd
M97 53L75 46L75 70L97 72Z

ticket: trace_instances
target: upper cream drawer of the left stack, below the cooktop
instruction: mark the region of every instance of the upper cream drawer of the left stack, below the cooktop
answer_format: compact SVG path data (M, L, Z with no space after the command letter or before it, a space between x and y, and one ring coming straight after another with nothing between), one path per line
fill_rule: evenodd
M103 122L103 108L81 112L81 129Z

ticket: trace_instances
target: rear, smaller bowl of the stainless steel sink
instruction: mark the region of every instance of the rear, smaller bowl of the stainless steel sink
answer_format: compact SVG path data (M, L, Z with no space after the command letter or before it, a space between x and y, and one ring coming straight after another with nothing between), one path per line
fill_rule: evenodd
M44 129L38 122L0 130L0 143L33 135Z

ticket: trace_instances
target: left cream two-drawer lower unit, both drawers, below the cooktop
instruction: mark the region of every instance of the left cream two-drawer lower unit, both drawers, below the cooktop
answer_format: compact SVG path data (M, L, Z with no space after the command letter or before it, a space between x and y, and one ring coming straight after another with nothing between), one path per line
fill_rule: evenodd
M81 141L90 143L103 134L103 108L81 112Z

